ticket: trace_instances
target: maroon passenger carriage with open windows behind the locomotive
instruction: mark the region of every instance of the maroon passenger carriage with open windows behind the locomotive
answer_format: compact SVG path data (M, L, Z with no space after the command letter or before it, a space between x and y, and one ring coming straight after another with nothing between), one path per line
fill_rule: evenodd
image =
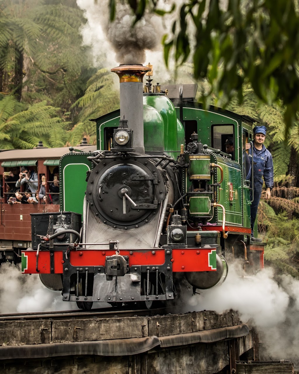
M76 148L78 148L78 151L76 151ZM86 141L83 141L82 144L75 147L73 152L88 152L95 148L95 146L87 145ZM50 177L53 169L59 166L60 158L69 152L68 147L46 148L42 145L29 150L4 150L0 152L0 175L2 178L1 185L3 186L0 197L0 264L5 261L21 262L21 249L31 247L31 213L59 212L59 203L52 203L53 193L51 194L49 191L49 183L51 182ZM18 171L16 175L19 175L22 166L30 171L37 172L38 191L41 186L41 175L45 175L46 202L39 201L38 204L7 203L7 197L12 195L8 191L8 186L15 186L15 182L7 182L3 173L8 173L14 169ZM24 194L25 186L23 184L19 187L22 194ZM57 201L57 199L55 200Z

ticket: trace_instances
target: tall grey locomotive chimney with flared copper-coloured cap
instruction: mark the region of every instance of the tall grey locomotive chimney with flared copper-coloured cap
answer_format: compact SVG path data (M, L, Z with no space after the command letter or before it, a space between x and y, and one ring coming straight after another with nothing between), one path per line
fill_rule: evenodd
M151 69L143 65L120 65L111 71L120 80L120 118L128 120L133 130L133 148L144 154L143 141L143 77Z

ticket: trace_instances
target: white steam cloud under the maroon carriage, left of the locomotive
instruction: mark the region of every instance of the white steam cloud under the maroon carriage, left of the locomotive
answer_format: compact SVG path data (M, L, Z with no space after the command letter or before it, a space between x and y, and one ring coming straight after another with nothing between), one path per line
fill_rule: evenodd
M20 266L0 266L0 313L52 312L78 309L76 303L62 301L60 292L51 291L37 274L22 274Z

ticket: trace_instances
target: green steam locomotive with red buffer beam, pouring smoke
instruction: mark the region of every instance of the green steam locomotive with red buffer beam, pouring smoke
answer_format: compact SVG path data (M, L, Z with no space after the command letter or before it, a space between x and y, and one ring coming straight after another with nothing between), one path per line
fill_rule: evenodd
M261 269L244 156L257 121L204 110L193 85L152 86L151 65L111 71L120 110L92 119L96 151L71 147L61 157L61 211L31 214L22 272L88 310L93 302L150 308L184 282L209 289L225 280L226 257L241 258L247 273Z

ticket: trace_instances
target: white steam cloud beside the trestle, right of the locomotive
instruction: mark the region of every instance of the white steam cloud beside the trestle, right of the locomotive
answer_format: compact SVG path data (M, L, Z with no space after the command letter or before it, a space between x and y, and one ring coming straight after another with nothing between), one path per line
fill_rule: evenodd
M298 361L299 281L289 275L275 276L271 268L248 278L241 278L241 273L240 266L230 265L221 286L185 295L184 312L238 310L243 322L258 328L263 359Z

